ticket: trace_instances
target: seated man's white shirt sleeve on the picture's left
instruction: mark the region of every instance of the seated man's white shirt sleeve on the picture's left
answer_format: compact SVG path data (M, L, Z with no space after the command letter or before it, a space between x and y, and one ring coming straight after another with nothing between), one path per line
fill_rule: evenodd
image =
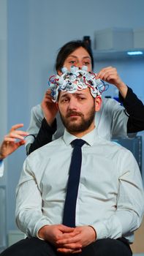
M50 225L42 214L42 195L27 160L16 189L15 216L18 227L28 237L37 237L41 227Z

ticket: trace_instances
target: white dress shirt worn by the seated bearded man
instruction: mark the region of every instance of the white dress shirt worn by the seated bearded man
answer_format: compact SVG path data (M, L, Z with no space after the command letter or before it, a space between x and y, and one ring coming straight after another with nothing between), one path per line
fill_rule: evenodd
M74 139L65 131L64 137L37 149L23 164L16 222L29 237L37 236L44 225L62 223ZM137 162L126 148L99 138L96 129L83 140L76 226L93 226L97 239L123 236L132 242L144 211Z

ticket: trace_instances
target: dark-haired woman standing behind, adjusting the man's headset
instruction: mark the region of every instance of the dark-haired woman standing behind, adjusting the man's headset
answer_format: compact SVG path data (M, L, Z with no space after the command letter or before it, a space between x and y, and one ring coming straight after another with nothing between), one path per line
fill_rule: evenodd
M94 57L86 42L77 40L67 42L58 52L56 58L56 72L61 75L62 67L76 66L80 69L88 67L88 72L94 69ZM102 108L96 113L96 128L102 138L126 137L128 133L139 132L144 129L144 105L121 80L115 67L105 67L97 73L107 83L112 83L119 91L119 97L124 107L115 99L103 99ZM64 132L61 118L58 115L56 103L53 103L50 91L46 91L41 105L31 110L29 136L26 138L26 151L30 154L35 149L44 146L52 139L56 139Z

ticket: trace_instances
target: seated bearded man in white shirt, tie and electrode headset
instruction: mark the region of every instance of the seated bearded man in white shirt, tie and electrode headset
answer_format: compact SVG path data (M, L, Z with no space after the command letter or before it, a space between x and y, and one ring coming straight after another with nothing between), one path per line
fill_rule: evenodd
M99 81L71 71L50 83L64 136L31 153L20 176L16 222L27 238L1 256L132 255L144 211L140 170L130 151L96 134Z

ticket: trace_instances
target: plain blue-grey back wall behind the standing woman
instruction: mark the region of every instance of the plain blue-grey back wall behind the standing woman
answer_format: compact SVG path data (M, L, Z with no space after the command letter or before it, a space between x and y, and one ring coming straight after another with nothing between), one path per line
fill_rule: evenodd
M61 45L84 35L91 36L93 44L94 31L107 27L144 27L143 9L143 0L7 0L7 127L17 122L28 127L30 109L42 100ZM109 64L97 63L95 70ZM113 65L144 97L143 61L117 61ZM16 228L15 187L25 157L24 148L20 148L8 159L10 230Z

